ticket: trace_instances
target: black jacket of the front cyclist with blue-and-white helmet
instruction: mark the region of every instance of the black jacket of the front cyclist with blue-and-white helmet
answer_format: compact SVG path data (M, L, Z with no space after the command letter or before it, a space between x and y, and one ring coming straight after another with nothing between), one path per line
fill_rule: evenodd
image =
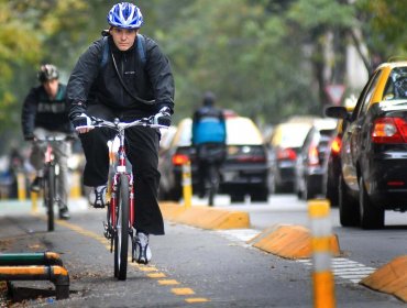
M105 105L113 110L131 111L141 117L155 114L161 108L174 109L174 78L169 61L158 45L145 38L146 63L143 65L134 45L121 52L108 37L109 50L113 53L118 69L127 87L143 100L154 100L147 105L132 98L118 78L111 54L106 65L101 65L103 40L92 45L79 57L68 81L67 99L70 103L69 117L86 113L88 105Z

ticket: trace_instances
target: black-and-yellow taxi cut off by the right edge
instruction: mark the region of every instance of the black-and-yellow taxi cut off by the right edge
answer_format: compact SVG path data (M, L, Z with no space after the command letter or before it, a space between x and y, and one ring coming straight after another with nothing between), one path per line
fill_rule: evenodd
M384 227L385 210L407 210L407 62L384 63L370 77L352 116L330 107L346 128L340 151L342 226Z

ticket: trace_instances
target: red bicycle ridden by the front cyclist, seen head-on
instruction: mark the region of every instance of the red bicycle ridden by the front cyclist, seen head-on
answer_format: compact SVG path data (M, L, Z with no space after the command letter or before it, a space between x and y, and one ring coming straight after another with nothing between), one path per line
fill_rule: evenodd
M113 122L91 117L90 128L108 128L116 131L119 140L117 152L111 146L110 172L108 182L107 221L103 221L105 238L110 240L110 252L114 258L114 277L127 279L129 237L132 243L132 262L135 262L135 229L134 222L134 176L128 170L128 161L124 150L124 131L132 127L146 127L152 129L166 128L153 124L154 117L143 118L133 122ZM112 142L112 141L111 141ZM116 153L112 153L116 152Z

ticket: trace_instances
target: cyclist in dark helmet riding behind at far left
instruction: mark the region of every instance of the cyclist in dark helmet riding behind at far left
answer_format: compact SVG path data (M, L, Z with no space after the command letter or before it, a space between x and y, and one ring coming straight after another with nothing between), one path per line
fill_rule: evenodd
M41 85L30 90L24 100L21 114L24 139L33 141L30 162L36 170L36 177L31 185L32 191L40 191L44 175L43 165L46 150L45 142L36 141L35 136L66 136L75 132L68 118L66 85L59 82L57 67L52 64L41 65L37 78ZM69 219L67 161L70 154L70 143L54 143L53 150L61 169L61 185L58 187L59 218Z

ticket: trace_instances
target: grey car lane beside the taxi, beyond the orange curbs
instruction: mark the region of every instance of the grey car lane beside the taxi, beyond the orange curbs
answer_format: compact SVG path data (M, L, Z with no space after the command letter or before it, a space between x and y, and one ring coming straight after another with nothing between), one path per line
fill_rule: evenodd
M222 205L227 207L226 202ZM239 204L227 208L248 211L252 228L257 230L279 223L310 227L307 202L293 194L272 195L268 204ZM339 222L338 208L331 208L332 233L338 235L344 256L366 266L380 267L406 254L407 213L386 211L385 223L382 230L344 228Z

